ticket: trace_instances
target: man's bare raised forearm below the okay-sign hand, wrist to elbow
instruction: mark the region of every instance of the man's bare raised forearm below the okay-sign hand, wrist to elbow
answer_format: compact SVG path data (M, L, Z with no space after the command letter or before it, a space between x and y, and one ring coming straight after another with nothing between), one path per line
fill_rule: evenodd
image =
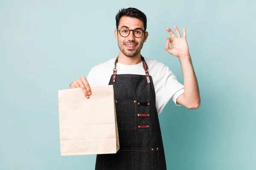
M184 98L186 104L192 108L198 108L200 105L200 94L191 57L180 57L179 59L183 71Z

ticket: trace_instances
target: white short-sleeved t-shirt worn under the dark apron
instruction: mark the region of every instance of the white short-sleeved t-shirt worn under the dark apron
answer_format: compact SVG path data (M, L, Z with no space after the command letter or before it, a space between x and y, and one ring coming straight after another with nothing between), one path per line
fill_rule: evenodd
M156 60L146 59L145 57L144 59L148 65L148 73L154 83L157 113L160 114L163 111L163 108L170 99L175 102L175 105L179 105L177 104L177 98L184 93L184 86L177 81L177 78L170 71L169 67ZM93 67L87 76L89 85L91 87L108 85L113 74L114 63L115 58ZM136 65L124 65L117 62L116 69L116 74L145 75L142 62Z

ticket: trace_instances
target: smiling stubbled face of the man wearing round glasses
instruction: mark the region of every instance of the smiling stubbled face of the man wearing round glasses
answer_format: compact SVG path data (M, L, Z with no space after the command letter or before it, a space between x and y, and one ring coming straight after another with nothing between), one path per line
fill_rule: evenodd
M118 29L121 28L128 28L129 30L141 28L144 30L144 25L143 21L137 18L121 17ZM148 32L144 32L141 37L137 38L132 31L130 31L130 34L127 37L122 37L119 34L119 31L115 30L115 37L118 41L120 51L127 57L134 57L140 53L143 43L147 40Z

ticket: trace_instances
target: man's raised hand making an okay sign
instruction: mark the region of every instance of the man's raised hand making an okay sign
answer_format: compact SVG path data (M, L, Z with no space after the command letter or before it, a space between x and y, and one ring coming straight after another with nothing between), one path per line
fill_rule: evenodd
M186 29L183 28L183 37L180 35L180 31L178 30L177 26L174 27L177 33L177 36L170 28L166 28L166 30L171 34L172 38L168 37L166 39L166 46L165 49L169 54L172 54L180 59L180 57L189 57L189 46L186 41ZM169 46L171 43L171 48Z

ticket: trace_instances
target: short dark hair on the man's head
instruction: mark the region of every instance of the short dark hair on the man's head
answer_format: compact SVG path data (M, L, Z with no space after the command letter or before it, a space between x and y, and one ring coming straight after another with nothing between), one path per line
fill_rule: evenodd
M144 24L144 29L146 30L147 28L147 17L146 15L136 9L136 8L122 8L120 9L117 14L116 14L116 29L118 29L118 26L119 26L119 21L121 19L121 17L132 17L132 18L137 18L141 21L143 21L143 24Z

